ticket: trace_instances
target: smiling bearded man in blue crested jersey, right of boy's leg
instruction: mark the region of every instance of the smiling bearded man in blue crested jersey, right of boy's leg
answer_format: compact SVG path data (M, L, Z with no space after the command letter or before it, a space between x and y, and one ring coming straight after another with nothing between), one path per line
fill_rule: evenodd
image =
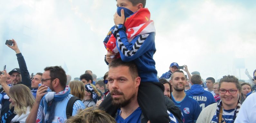
M185 123L195 123L200 112L200 106L196 100L184 92L186 79L183 71L175 71L171 75L173 84L172 99L177 107L180 108Z

